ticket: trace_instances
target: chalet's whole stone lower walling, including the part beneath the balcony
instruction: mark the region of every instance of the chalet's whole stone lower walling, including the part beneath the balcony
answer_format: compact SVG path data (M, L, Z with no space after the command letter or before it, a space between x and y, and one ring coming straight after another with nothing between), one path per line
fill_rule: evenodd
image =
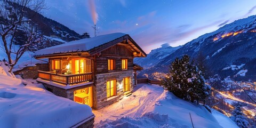
M46 90L52 92L59 97L74 100L74 91L84 89L85 87L93 86L93 108L100 109L111 105L112 103L121 100L124 97L123 78L130 77L130 92L133 91L134 77L133 70L111 72L107 74L98 74L94 80L94 84L74 87L72 89L62 89L61 87L43 83ZM116 95L107 98L107 81L116 79ZM42 82L41 82L42 83Z

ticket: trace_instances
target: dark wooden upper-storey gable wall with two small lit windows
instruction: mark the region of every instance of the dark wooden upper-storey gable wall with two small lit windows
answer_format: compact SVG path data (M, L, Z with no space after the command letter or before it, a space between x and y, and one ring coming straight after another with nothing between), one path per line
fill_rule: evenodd
M115 59L116 70L108 70L108 59ZM96 74L123 71L122 59L127 59L127 69L133 70L133 54L124 45L114 45L96 57Z

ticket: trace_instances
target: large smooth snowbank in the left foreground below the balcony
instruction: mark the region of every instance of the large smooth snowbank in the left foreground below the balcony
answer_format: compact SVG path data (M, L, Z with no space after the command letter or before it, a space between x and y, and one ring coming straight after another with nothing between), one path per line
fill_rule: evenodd
M22 81L0 74L1 127L71 127L93 116L87 105Z

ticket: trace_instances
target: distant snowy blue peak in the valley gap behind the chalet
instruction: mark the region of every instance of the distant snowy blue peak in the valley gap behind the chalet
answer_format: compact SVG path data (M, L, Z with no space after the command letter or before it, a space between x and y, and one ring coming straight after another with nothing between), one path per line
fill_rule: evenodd
M157 64L157 62L159 62L159 60L167 57L180 47L181 46L171 47L169 44L164 44L162 47L152 50L149 54L147 54L146 58L134 58L134 63L142 66L143 68L153 67Z

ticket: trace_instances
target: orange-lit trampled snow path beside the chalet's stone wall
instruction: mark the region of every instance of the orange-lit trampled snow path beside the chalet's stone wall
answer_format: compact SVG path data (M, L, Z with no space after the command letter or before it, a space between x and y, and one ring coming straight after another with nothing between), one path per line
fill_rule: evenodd
M164 92L158 85L139 84L135 92L129 97L124 97L110 106L99 110L93 110L94 122L99 123L105 119L116 119L124 116L141 117L146 108L151 107L155 100Z

